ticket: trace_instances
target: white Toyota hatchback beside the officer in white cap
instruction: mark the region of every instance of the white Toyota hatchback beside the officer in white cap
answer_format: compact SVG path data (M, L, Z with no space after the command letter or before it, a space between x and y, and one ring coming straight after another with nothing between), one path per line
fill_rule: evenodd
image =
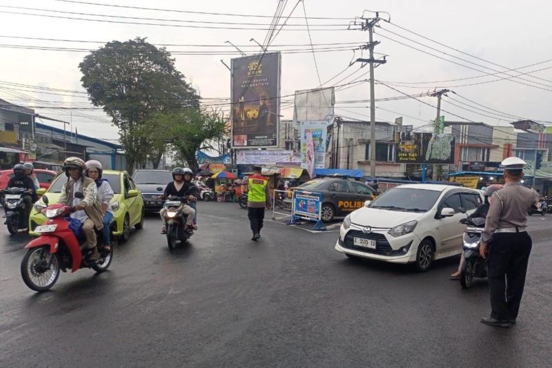
M433 260L462 253L462 212L473 213L482 202L480 191L471 188L396 186L345 218L335 249L426 271Z

